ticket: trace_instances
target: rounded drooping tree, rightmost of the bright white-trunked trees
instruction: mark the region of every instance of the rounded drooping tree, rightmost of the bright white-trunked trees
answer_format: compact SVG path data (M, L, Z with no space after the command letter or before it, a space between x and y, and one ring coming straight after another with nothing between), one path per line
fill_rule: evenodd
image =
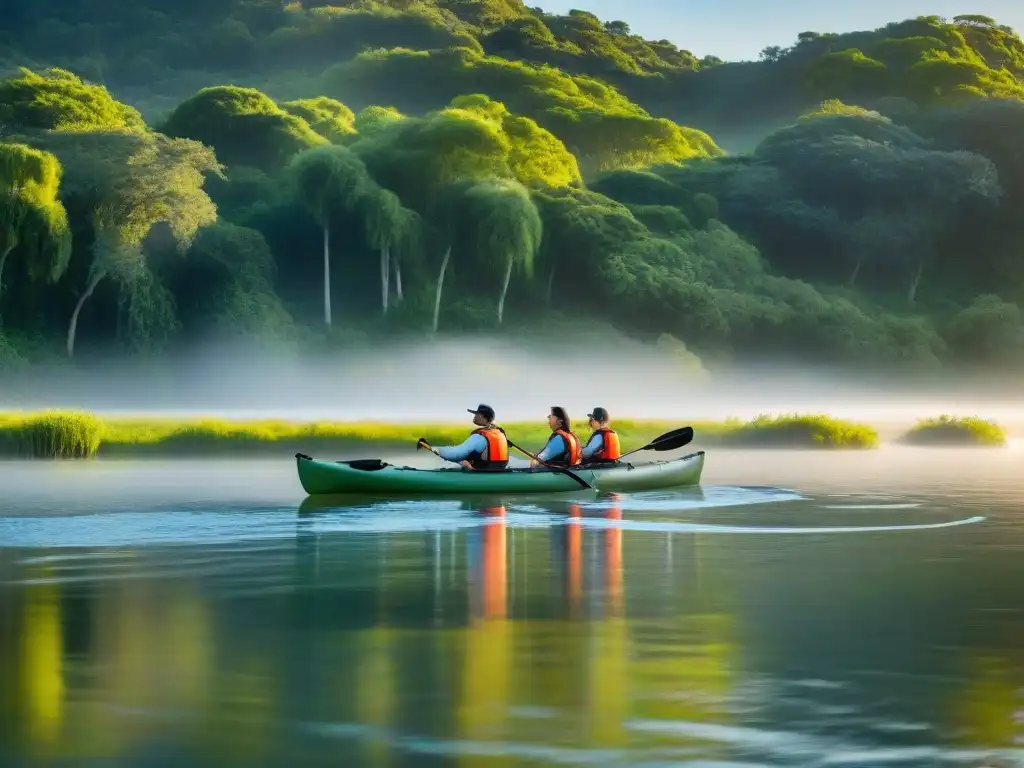
M481 181L466 191L465 218L481 257L504 268L498 299L501 323L513 269L518 267L532 276L534 257L543 232L541 214L526 187L517 181L495 179Z

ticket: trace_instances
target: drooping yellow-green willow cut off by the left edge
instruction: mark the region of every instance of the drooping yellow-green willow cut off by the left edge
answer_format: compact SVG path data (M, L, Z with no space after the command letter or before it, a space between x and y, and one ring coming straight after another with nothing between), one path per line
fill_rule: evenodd
M56 281L68 268L71 229L57 190L60 163L25 144L0 144L0 292L7 257L17 248L35 280Z

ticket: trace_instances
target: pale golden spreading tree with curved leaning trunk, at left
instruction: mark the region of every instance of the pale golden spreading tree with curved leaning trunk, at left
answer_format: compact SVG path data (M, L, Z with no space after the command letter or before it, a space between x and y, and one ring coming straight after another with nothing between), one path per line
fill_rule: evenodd
M143 242L163 223L183 253L197 230L216 220L203 189L204 174L221 172L213 152L159 133L53 132L39 140L62 162L63 197L88 215L93 230L86 287L68 327L68 355L75 353L82 308L106 278L118 283L140 332L148 333L154 318L172 322L173 303L150 268Z

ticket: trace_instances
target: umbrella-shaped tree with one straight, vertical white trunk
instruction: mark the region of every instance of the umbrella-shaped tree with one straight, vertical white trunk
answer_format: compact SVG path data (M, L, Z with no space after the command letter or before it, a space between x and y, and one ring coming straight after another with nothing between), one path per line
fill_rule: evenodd
M331 326L331 224L376 189L362 161L344 146L317 146L288 166L296 199L324 230L324 323Z

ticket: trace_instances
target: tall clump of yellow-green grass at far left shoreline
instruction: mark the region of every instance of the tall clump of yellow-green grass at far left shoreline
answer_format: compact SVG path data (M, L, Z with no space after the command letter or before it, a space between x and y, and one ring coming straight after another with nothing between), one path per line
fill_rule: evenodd
M0 456L25 459L89 459L103 437L91 414L46 412L0 416Z

